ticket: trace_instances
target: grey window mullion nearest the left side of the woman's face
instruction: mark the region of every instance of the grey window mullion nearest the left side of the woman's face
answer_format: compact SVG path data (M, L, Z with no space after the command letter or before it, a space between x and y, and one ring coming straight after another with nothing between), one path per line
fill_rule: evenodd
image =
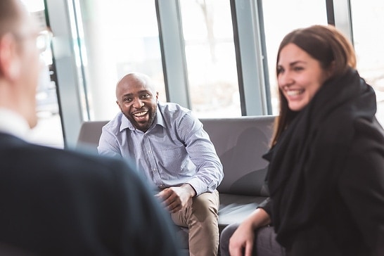
M258 6L255 1L231 0L238 62L238 82L242 115L267 115L267 89L264 77Z

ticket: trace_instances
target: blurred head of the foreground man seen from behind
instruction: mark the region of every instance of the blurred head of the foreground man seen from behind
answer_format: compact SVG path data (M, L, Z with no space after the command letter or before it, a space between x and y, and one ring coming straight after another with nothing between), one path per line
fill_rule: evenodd
M0 107L37 124L36 89L42 64L37 22L19 0L0 1Z

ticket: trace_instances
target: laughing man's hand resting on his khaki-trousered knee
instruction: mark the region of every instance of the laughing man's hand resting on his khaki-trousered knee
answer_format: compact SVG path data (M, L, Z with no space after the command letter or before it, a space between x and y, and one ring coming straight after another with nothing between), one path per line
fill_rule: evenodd
M178 212L196 195L196 191L189 184L171 186L160 191L156 196L167 207L169 212Z

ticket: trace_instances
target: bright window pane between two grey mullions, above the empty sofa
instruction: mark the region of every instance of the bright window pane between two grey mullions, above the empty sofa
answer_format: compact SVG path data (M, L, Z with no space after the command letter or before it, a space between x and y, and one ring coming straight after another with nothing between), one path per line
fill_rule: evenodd
M180 0L192 110L241 116L229 1Z

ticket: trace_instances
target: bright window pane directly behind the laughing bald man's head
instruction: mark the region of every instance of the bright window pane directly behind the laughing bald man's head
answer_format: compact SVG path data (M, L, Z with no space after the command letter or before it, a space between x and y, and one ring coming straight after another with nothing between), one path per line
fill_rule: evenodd
M152 77L166 101L155 1L78 0L75 8L90 119L120 111L115 86L129 72Z

